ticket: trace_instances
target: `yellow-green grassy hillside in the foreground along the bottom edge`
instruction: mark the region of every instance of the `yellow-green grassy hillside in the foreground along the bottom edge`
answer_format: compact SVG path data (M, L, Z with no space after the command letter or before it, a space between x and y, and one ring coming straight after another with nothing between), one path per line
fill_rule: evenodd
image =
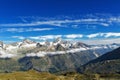
M0 80L119 80L120 74L79 74L68 72L63 74L50 74L29 70L25 72L0 73Z

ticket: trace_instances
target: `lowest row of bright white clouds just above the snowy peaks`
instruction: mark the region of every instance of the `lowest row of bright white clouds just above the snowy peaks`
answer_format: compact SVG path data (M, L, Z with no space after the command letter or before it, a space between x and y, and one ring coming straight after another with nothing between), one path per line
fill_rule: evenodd
M69 39L69 40L74 40L74 39L99 39L100 37L104 38L111 38L111 37L120 37L120 33L114 33L114 32L108 32L108 33L95 33L95 34L68 34L68 35L40 35L40 36L29 36L29 37L24 37L24 36L12 36L12 38L18 38L18 39L35 39L35 40L49 40L49 39L56 39L56 38L63 38L63 39Z

